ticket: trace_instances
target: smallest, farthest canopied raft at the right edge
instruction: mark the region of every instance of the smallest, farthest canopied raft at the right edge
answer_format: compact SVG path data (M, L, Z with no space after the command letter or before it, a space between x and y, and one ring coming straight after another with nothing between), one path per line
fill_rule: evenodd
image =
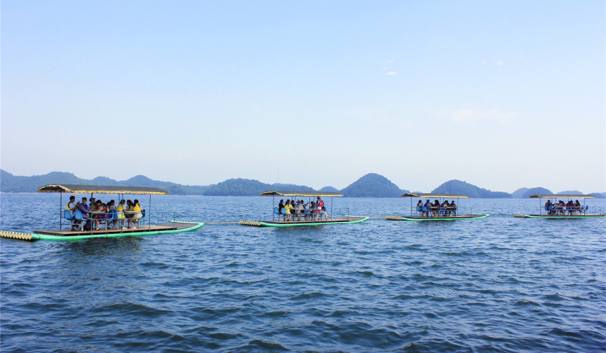
M539 199L539 213L537 214L514 214L514 217L539 218L539 219L588 219L604 218L602 207L589 207L586 205L586 199L595 198L593 195L567 195L567 194L535 194L529 198ZM557 200L566 199L569 202L558 202ZM567 205L572 200L583 200L583 205ZM543 203L543 200L548 200ZM553 200L553 202L552 202ZM555 202L555 203L554 203Z

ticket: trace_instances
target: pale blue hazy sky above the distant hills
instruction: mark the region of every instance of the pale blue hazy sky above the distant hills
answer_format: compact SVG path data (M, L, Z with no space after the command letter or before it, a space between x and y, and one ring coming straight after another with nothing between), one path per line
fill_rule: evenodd
M602 0L0 6L15 175L606 191Z

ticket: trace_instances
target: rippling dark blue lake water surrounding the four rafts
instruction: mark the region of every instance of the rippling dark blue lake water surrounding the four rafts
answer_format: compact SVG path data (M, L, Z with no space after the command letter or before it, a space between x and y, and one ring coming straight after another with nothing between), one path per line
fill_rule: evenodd
M0 201L1 230L58 226L58 194ZM81 242L0 239L1 352L606 349L606 219L520 219L511 215L539 202L471 199L462 205L491 216L386 221L410 201L335 198L335 209L372 218L257 228L213 223L271 219L271 198L152 202L209 224Z

